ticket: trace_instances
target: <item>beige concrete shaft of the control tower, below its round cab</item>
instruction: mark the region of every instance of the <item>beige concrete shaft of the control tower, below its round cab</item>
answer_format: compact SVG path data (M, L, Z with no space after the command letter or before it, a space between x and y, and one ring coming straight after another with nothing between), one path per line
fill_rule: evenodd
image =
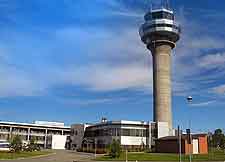
M159 44L151 48L153 57L154 121L167 122L172 129L171 113L171 46Z

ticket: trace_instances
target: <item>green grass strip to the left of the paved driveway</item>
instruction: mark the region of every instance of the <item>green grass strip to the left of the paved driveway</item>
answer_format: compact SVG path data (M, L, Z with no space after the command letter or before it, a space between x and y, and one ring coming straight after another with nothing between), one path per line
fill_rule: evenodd
M9 152L0 152L1 159L18 159L18 158L29 158L40 155L51 154L51 151L34 151L34 152L20 152L20 153L9 153Z

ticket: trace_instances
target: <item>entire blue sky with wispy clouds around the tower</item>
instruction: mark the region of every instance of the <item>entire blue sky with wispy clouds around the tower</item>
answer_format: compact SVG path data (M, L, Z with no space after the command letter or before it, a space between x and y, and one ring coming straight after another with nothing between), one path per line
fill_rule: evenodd
M158 2L1 0L0 120L152 120L152 58L138 28ZM174 126L225 128L225 2L218 2L170 2L182 26L172 56Z

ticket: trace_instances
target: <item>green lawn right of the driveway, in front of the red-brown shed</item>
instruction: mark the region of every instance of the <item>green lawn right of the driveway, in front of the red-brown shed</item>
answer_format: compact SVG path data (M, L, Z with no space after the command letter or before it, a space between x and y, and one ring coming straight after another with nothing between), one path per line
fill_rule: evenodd
M192 161L224 161L224 151L214 151L208 155L193 155ZM112 159L105 155L96 158L97 161L125 161L126 155L122 153L120 158ZM128 161L178 161L179 156L177 154L158 154L158 153L128 153ZM182 161L188 161L189 156L182 157Z

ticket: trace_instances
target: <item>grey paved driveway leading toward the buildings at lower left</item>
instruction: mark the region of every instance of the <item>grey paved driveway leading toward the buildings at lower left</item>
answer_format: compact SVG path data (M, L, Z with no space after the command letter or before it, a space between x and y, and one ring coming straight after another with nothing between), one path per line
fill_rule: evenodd
M4 160L0 162L89 162L90 159L93 158L93 154L76 153L73 151L55 151L55 154L45 157L8 161Z

